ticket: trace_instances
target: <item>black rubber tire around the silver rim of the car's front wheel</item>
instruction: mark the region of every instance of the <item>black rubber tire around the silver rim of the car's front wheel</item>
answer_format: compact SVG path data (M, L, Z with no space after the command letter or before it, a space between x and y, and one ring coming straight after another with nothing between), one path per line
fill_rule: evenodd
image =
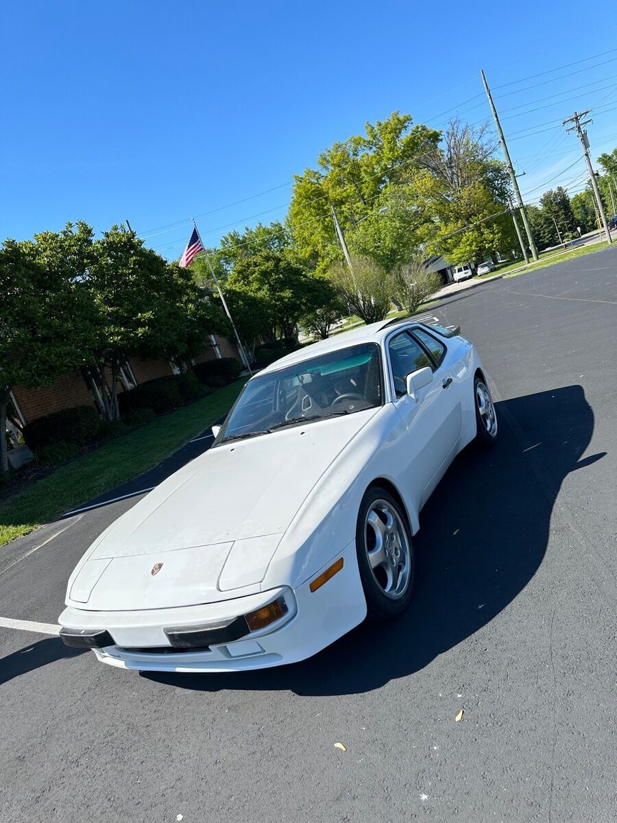
M378 568L378 570L373 573L369 561L369 549L371 549L372 546L369 546L369 549L367 549L367 538L369 542L371 542L372 529L370 525L367 525L367 517L369 514L372 514L373 511L377 514L376 509L380 509L382 504L386 504L386 508L391 510L394 520L392 531L388 532L388 534L392 535L395 532L397 533L398 547L400 550L399 556L402 556L404 545L402 537L404 537L406 541L406 556L408 558L405 572L402 571L402 564L396 567L397 577L399 577L399 574L400 578L402 578L403 574L406 575L406 584L404 586L401 584L400 593L393 591L389 595L384 591L384 588L387 586L387 569L385 569L384 566L384 570ZM373 507L376 507L376 509ZM384 526L384 528L386 527ZM389 545L393 552L396 551L395 542ZM355 546L358 554L360 579L362 581L362 588L364 588L364 597L366 597L369 619L387 620L389 617L401 614L401 611L404 611L411 601L415 579L415 556L411 542L411 529L405 509L403 509L401 504L397 502L389 491L383 489L381 486L371 486L362 498L360 511L358 513L358 523L355 529ZM386 551L390 551L390 549L387 548ZM396 563L394 556L388 558L388 560L392 562L392 565ZM392 570L390 570L389 574L393 574Z

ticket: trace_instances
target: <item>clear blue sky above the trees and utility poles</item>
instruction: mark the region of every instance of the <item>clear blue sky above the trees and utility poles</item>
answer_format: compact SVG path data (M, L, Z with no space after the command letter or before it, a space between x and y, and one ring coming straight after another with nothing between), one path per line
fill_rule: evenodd
M174 258L201 215L215 244L282 218L293 174L367 120L488 118L480 67L526 199L580 190L580 147L559 120L595 106L594 156L617 146L617 22L580 8L4 0L0 238L128 218Z

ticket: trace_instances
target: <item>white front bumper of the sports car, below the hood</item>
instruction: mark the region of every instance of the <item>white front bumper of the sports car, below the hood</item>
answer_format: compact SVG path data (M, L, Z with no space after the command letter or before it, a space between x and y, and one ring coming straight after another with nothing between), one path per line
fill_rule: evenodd
M93 648L110 666L150 672L239 672L280 666L308 658L345 635L366 616L366 602L355 556L355 543L341 552L344 565L327 583L311 592L310 581L298 588L281 587L201 606L143 611L86 611L68 607L59 618L65 632L105 631L113 644ZM169 642L169 626L200 626L234 621L285 597L287 613L266 629L240 639L212 643L205 649L177 649Z

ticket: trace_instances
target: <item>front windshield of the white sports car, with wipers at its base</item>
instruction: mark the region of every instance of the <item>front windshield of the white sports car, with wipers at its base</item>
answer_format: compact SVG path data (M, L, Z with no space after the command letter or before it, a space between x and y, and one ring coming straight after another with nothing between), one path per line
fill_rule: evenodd
M361 412L382 403L378 346L350 346L249 380L216 444Z

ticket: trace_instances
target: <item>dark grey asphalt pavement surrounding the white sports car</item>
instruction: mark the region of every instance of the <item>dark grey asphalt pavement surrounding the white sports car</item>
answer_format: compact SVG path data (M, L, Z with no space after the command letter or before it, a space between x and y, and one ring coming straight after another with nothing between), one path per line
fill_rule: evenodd
M0 628L0 820L615 821L617 251L431 313L476 342L501 428L424 508L411 608L234 677ZM53 623L137 499L7 546L0 615Z

